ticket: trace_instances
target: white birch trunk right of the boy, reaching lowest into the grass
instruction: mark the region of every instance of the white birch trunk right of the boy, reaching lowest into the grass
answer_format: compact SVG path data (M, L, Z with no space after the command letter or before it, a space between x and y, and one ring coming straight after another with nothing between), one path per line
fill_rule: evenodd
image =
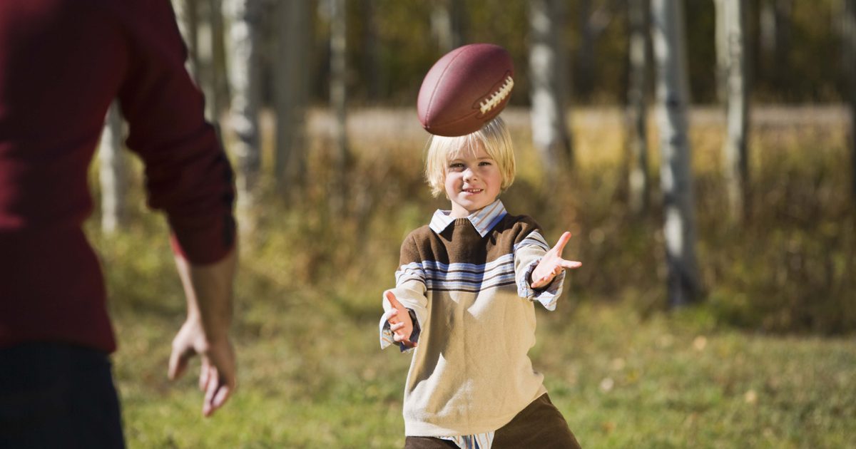
M651 37L657 68L660 180L663 190L668 297L672 307L699 298L695 256L693 174L687 135L687 59L683 2L651 0Z

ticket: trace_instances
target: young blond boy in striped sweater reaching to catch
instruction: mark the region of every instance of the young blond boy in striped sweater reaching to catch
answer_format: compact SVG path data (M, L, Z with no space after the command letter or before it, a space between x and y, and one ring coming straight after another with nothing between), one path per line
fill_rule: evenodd
M406 448L579 447L532 369L538 301L556 309L570 233L555 247L497 197L514 180L496 117L461 137L431 136L425 174L451 200L401 244L383 293L381 348L413 351L404 391Z

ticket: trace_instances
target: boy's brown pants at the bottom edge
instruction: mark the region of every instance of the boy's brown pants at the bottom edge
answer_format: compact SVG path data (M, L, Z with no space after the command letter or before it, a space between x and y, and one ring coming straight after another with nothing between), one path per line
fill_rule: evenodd
M449 449L457 447L449 440L429 436L408 436L405 449ZM546 393L526 405L511 422L496 429L491 449L580 449L580 443L568 428L562 412Z

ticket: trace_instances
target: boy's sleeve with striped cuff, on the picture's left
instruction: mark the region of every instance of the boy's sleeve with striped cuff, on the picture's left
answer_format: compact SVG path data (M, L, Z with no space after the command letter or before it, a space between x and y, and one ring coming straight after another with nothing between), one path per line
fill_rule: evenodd
M413 320L413 333L410 334L410 341L414 343L419 341L419 334L425 326L428 316L428 298L425 288L425 270L422 268L422 262L419 259L419 251L416 251L416 245L413 240L413 235L410 235L401 244L401 266L395 271L395 288L389 291L395 295L398 302L407 308L410 312L410 318ZM383 312L388 312L392 309L389 301L383 297ZM385 349L395 343L392 339L392 331L389 329L389 322L381 317L379 323L380 330L380 347ZM401 352L411 352L412 347L404 346L398 343Z

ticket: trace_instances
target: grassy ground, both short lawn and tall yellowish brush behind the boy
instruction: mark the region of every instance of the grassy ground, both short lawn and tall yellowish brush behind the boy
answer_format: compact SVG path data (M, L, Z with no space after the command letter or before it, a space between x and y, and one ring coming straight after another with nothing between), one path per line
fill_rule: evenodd
M638 222L622 209L620 120L596 115L574 118L580 168L556 204L527 197L538 190L538 169L523 143L524 119L508 120L520 127L521 162L509 210L536 216L548 239L575 227L568 252L586 263L556 312L538 310L530 353L583 446L856 446L848 321L856 316L856 244L853 206L841 198L848 174L835 162L846 156L837 125L759 127L758 211L740 229L718 224L720 125L694 128L709 294L701 306L668 312L656 205ZM403 446L409 356L378 349L380 292L393 281L403 234L442 204L419 180L419 130L395 141L380 131L395 123L372 128L367 117L354 120L364 133L377 129L374 139L352 134L362 209L330 220L316 207L324 189L311 185L288 203L269 193L256 211L235 288L239 389L211 419L201 417L193 375L175 385L166 379L184 301L163 220L141 211L140 192L131 192L136 209L122 233L107 237L90 223L116 323L131 448ZM315 141L323 146L324 136ZM309 162L323 184L331 176L324 151ZM356 256L372 263L351 263Z

